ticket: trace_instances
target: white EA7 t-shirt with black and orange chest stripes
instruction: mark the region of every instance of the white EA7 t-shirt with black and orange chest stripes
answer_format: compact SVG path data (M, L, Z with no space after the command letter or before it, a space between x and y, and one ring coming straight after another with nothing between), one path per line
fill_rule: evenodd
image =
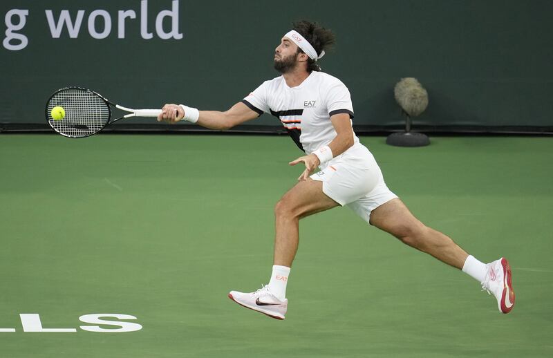
M253 111L279 118L298 147L307 154L336 137L330 116L348 113L353 118L350 92L336 77L313 71L299 86L288 87L284 77L265 81L242 101ZM355 144L359 139L355 136Z

